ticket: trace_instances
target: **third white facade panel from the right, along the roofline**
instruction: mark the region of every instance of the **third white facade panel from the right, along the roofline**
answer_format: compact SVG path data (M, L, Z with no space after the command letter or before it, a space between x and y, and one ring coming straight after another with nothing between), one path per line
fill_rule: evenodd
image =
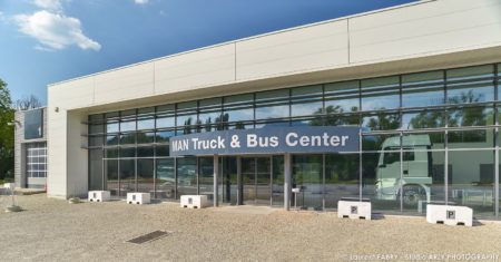
M234 43L155 61L155 94L176 93L234 80Z

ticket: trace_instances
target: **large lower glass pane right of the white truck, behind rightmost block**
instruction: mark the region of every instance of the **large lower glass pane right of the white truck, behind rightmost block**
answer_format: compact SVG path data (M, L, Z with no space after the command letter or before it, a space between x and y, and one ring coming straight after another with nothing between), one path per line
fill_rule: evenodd
M473 208L475 217L492 217L494 206L493 151L449 152L449 204Z

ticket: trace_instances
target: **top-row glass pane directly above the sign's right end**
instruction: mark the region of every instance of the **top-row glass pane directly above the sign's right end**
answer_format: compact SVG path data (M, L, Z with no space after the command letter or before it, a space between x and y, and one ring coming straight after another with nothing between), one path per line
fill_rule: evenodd
M346 113L360 109L360 81L327 84L324 89L327 111Z

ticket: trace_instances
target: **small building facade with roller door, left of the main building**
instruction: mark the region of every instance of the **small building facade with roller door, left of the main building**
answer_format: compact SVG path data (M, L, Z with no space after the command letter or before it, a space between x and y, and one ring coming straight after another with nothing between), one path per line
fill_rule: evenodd
M14 182L17 187L47 186L47 108L16 111Z

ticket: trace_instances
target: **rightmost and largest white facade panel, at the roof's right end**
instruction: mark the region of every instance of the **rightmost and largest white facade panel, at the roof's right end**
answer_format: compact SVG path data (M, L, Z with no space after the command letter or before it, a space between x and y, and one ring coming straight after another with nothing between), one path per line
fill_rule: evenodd
M501 2L441 0L350 19L351 62L501 42Z

